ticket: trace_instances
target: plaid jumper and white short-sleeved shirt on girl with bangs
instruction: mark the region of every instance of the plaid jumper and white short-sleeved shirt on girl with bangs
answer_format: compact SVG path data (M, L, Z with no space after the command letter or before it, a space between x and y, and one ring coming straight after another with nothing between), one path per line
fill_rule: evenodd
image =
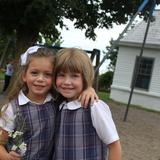
M54 160L103 160L107 145L119 140L109 107L99 100L84 109L63 102L57 118Z

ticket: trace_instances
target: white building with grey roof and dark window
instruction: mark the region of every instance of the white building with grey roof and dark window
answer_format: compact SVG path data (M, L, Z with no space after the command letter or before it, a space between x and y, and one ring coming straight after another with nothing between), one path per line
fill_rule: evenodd
M153 15L155 21L150 23L131 104L160 111L160 11L154 11ZM113 100L128 103L146 26L145 21L140 22L119 42L110 94Z

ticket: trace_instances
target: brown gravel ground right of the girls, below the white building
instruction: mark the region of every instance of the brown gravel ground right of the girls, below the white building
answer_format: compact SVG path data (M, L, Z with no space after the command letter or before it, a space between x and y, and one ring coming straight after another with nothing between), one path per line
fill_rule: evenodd
M160 160L160 113L129 109L124 122L125 105L110 101L122 144L122 160Z

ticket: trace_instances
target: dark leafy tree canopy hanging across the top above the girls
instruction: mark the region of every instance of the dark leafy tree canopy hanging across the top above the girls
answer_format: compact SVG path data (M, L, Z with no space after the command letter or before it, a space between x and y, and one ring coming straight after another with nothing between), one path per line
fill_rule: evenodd
M0 33L15 33L17 56L40 40L55 41L57 25L65 26L63 18L74 20L75 28L85 29L85 35L96 38L96 27L111 28L113 23L126 23L139 0L0 0Z

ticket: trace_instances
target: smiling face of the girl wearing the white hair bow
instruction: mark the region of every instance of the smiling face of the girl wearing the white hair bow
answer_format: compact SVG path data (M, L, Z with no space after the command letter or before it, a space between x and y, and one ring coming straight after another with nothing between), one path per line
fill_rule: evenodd
M27 97L34 102L43 102L52 87L53 63L48 57L32 58L22 76L28 87Z

